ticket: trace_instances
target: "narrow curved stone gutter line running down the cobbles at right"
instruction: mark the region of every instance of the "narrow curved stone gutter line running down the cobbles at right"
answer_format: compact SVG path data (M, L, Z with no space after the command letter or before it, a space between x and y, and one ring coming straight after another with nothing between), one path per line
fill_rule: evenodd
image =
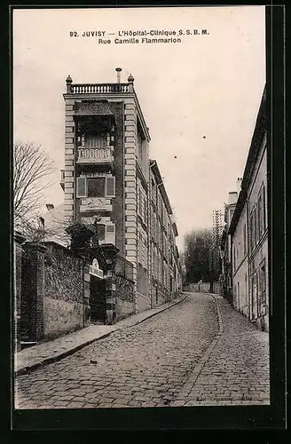
M213 296L210 293L207 293L209 296L213 297L214 300L216 301L216 313L217 313L217 319L218 319L218 331L216 333L216 336L214 337L214 339L212 340L211 344L208 345L208 348L206 350L206 352L203 354L203 356L201 357L201 360L199 361L199 363L195 366L195 368L193 369L192 374L190 375L190 377L188 378L188 380L185 382L185 385L183 385L182 390L177 394L177 400L173 401L173 403L171 404L171 407L176 407L176 402L177 405L179 405L179 397L185 397L188 396L189 393L191 392L191 390L193 389L193 385L196 383L197 378L199 377L200 373L201 373L201 369L203 369L204 365L206 364L206 362L208 361L210 354L214 351L214 349L216 348L216 345L218 344L220 337L222 336L222 334L224 333L224 323L221 317L221 313L219 310L219 305L217 302L217 299L215 296Z

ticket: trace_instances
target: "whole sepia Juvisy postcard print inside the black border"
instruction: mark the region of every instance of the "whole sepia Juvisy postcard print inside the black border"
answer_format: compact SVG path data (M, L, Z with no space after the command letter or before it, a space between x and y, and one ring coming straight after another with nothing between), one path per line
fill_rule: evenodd
M12 12L14 407L270 406L265 7Z

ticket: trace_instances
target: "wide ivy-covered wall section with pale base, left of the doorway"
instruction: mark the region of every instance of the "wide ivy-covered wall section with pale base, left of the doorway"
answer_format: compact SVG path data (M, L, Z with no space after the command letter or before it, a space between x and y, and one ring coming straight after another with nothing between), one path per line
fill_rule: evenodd
M59 337L84 326L83 258L46 242L43 278L43 338Z

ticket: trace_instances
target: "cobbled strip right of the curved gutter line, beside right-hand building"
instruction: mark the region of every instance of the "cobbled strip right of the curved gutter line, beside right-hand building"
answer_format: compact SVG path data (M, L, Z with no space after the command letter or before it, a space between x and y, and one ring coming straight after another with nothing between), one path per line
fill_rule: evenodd
M230 305L221 305L220 311L224 333L202 367L191 391L186 393L185 400L202 399L203 405L208 405L208 402L223 405L227 398L235 405L244 405L248 400L256 398L268 400L268 335L256 330ZM255 336L248 333L255 333L263 341L258 345ZM247 370L247 367L251 369ZM181 397L179 394L177 396Z

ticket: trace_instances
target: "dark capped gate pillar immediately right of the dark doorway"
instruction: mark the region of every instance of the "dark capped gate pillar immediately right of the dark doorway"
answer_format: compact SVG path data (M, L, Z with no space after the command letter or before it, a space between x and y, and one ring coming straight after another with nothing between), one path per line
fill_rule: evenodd
M112 325L116 320L115 265L119 249L113 243L104 243L101 249L105 258L106 324Z

